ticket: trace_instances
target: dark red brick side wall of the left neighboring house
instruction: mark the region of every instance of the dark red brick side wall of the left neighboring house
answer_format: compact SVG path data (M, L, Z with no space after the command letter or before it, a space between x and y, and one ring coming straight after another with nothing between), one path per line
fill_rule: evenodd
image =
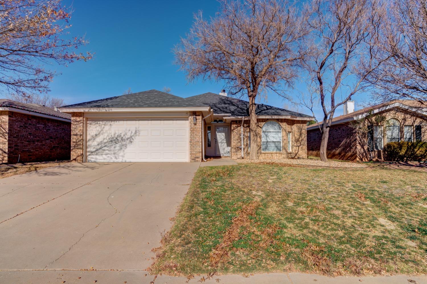
M70 159L70 122L9 112L8 163Z

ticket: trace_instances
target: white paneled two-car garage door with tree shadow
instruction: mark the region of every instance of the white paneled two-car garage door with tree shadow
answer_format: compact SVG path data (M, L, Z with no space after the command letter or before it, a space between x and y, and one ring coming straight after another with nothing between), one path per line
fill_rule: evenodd
M88 119L88 162L188 162L188 119Z

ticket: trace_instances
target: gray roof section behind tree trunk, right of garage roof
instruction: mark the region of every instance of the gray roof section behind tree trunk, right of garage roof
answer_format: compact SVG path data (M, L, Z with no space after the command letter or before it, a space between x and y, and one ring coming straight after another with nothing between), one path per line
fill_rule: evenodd
M204 93L185 99L192 104L204 104L211 107L214 114L228 114L229 116L249 116L249 101L222 96L215 93ZM257 104L257 116L290 116L299 118L312 118L303 113L272 107L266 104Z

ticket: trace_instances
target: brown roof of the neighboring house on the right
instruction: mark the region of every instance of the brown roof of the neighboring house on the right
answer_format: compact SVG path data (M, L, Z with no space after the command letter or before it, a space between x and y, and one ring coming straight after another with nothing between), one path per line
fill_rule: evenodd
M387 101L381 104L376 104L371 107L365 107L363 109L356 110L352 113L347 113L345 115L336 116L332 119L331 125L349 122L356 119L361 119L363 118L363 116L366 116L369 113L369 111L373 111L374 113L377 113L380 111L389 110L393 107L400 107L403 109L421 113L423 115L427 115L427 103L421 104L419 101L415 101L415 100L393 100L393 101ZM312 125L308 125L307 130L313 130L316 127L318 128L318 126L322 124L323 124L322 122L319 122Z

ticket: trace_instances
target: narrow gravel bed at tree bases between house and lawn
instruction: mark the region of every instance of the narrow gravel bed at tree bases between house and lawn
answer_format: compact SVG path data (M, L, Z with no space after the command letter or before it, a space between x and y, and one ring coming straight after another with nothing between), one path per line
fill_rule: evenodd
M258 159L258 160L249 160L249 159L236 159L238 163L250 163L250 162L276 162L276 163L286 163L286 164L295 164L295 165L312 165L312 166L322 166L322 167L339 167L339 168L366 168L368 165L359 164L355 162L338 162L338 161L328 161L322 162L321 160L315 159Z

